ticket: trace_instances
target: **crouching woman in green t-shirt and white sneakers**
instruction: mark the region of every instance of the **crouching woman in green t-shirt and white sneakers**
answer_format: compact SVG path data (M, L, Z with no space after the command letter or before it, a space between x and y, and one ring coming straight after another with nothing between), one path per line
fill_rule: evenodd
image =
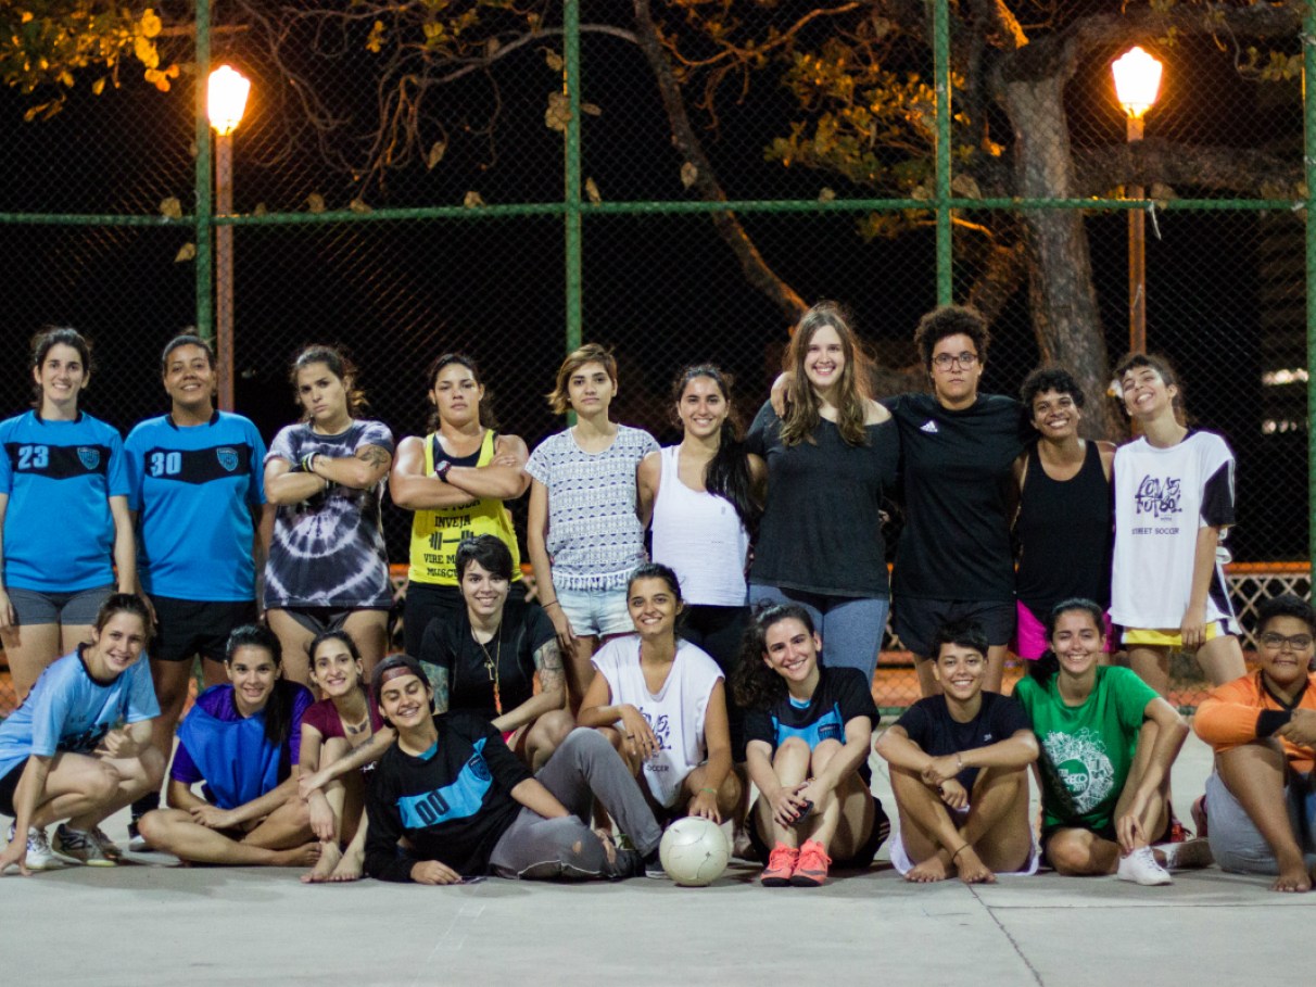
M1057 604L1046 638L1050 650L1015 688L1041 744L1046 861L1067 876L1138 884L1169 884L1170 869L1209 863L1205 840L1163 842L1183 717L1134 672L1100 665L1104 613L1092 600Z

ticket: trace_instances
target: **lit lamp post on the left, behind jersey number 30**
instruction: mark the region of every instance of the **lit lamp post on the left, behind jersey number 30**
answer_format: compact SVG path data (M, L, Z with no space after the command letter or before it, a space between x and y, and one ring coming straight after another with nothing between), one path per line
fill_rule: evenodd
M215 130L215 212L233 212L233 132L246 109L251 82L224 64L211 72L205 112ZM233 228L215 228L215 349L220 408L233 411Z

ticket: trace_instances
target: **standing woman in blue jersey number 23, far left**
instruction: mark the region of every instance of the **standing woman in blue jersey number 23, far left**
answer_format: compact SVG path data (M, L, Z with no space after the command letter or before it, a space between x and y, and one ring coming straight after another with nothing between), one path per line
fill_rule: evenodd
M20 701L47 665L89 640L116 587L137 590L124 443L78 408L91 380L87 341L74 329L38 333L32 379L33 409L0 422L0 642Z

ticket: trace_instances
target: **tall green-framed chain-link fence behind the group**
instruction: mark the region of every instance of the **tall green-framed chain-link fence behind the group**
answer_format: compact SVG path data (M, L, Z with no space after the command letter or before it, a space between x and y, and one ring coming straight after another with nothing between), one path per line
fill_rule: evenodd
M26 338L59 322L97 343L92 413L126 432L163 409L159 346L213 332L196 83L229 62L253 96L234 216L215 221L234 230L236 407L267 438L296 415L292 355L328 341L399 437L422 429L429 361L471 353L533 446L561 426L542 395L583 338L616 347L617 417L670 442L678 367L733 371L747 418L792 305L821 297L854 312L884 393L923 379L912 328L950 300L991 320L984 390L1082 351L1100 392L1141 276L1149 349L1238 455L1240 605L1271 572L1307 591L1278 566L1309 540L1295 5L1020 0L992 22L946 3L161 8L167 92L129 45L117 86L78 70L49 120L24 120L49 87L0 99L3 407L29 399ZM1166 66L1136 146L1109 70L1134 42ZM1121 199L1137 187L1142 275ZM1103 415L1119 438L1121 412ZM408 524L387 511L396 563ZM904 665L883 655L883 705L915 697Z

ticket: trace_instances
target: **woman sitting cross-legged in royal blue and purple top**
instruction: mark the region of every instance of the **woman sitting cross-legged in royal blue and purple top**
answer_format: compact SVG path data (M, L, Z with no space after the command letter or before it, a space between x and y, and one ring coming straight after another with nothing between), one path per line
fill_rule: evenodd
M311 690L282 678L279 638L254 624L229 636L224 667L232 684L197 696L179 726L170 808L147 812L138 828L150 846L187 862L315 863L320 845L297 792ZM203 795L192 791L197 782Z

